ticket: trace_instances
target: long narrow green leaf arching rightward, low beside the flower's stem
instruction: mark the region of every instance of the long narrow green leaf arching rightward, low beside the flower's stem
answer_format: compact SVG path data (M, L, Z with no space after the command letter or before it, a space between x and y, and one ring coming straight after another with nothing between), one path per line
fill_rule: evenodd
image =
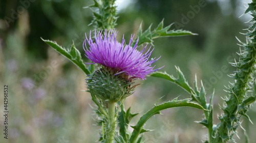
M138 123L136 124L136 126L132 126L134 128L132 136L129 139L130 143L134 143L139 134L141 133L141 130L143 129L144 124L146 123L146 121L148 119L150 119L152 116L156 115L156 113L160 112L163 109L167 109L167 108L172 108L172 107L194 107L194 108L198 108L198 109L204 109L201 105L194 103L194 102L190 102L191 99L183 99L183 100L171 100L168 102L164 102L162 104L159 104L157 106L154 106L153 108L151 108L150 110L148 110L138 121Z

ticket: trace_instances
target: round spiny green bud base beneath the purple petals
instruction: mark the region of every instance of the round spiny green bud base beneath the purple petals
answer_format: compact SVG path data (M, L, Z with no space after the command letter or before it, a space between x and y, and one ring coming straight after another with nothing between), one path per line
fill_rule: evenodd
M109 68L101 68L88 75L88 91L104 101L118 102L131 95L135 86L134 82L125 78L123 74L114 75L116 72Z

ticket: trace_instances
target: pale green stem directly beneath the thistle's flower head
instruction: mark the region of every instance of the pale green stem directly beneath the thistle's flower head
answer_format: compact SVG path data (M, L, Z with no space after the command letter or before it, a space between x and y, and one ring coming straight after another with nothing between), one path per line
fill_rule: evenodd
M106 131L106 143L113 143L116 131L116 102L108 102L109 118Z

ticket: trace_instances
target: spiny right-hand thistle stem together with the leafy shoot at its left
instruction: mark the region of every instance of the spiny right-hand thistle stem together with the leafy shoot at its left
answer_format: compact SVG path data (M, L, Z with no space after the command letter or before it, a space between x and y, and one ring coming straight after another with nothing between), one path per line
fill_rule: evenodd
M198 102L202 107L204 107L204 109L207 109L204 110L204 119L202 121L197 121L197 123L204 125L208 129L208 139L205 141L207 143L219 143L228 141L236 142L233 139L233 135L237 134L236 129L241 127L241 118L245 117L250 121L250 118L246 112L252 103L256 100L255 1L249 4L249 7L245 13L248 12L252 13L252 25L247 29L248 32L245 34L246 43L239 41L239 45L241 46L240 53L238 53L240 56L239 60L235 60L234 63L231 63L232 66L237 68L237 71L230 75L234 81L230 82L230 85L228 85L225 90L227 92L227 96L223 98L225 102L224 105L221 106L223 113L218 117L220 123L217 125L214 125L213 122L212 98L214 97L214 93L211 94L209 103L207 103L205 89L203 84L201 89L198 89L196 80L197 78L195 78L195 89L193 89L185 80L185 77L179 68L177 68L178 78L162 72L156 72L151 75L165 78L180 85L180 87L191 94L191 98L194 101Z

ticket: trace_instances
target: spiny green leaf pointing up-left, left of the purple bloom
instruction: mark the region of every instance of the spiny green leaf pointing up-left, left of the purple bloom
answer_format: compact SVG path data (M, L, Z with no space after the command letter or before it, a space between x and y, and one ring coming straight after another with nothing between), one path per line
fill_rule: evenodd
M41 38L42 39L42 38ZM78 66L84 73L90 74L91 72L86 68L86 65L82 62L81 53L75 48L73 44L70 51L66 50L65 48L58 45L56 42L50 40L44 40L48 45L58 51L60 54L66 56L71 62L73 62L76 66Z

